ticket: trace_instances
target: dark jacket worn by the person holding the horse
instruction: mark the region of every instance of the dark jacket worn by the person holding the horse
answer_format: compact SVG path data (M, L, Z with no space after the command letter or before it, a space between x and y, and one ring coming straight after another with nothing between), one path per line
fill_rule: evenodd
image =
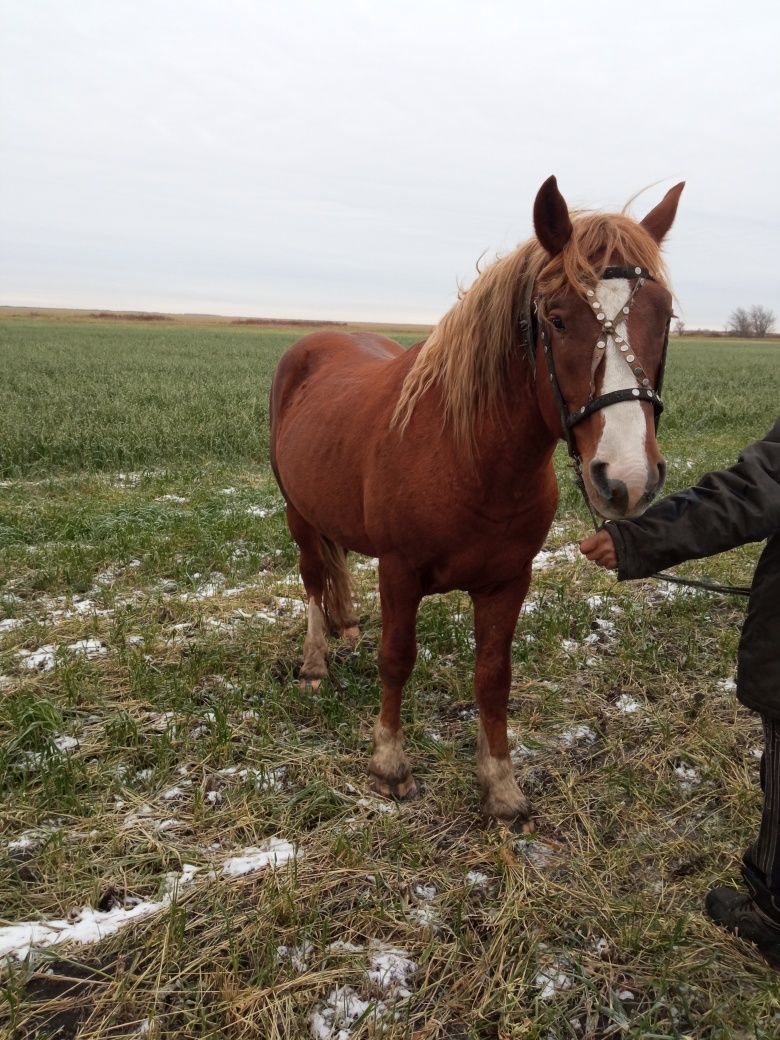
M780 420L745 448L736 466L707 473L639 519L606 529L621 581L769 539L739 641L736 693L749 708L780 721Z

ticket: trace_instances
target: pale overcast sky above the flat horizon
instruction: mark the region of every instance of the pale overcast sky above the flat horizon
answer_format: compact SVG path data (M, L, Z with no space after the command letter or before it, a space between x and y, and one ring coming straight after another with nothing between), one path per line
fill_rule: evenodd
M554 173L687 181L678 312L780 315L779 11L4 0L0 304L435 321Z

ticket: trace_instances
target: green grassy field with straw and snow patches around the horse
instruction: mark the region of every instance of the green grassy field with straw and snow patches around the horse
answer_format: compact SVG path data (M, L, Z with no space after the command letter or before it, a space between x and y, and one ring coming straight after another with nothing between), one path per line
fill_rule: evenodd
M265 411L300 335L0 322L0 951L21 921L74 939L6 962L0 1029L776 1038L780 978L701 913L759 814L760 728L731 688L744 604L576 558L562 456L514 651L536 838L479 814L457 594L423 604L405 703L423 796L376 800L373 562L354 568L361 642L318 695L295 681ZM673 342L665 398L674 489L770 427L780 346ZM758 548L682 570L746 581Z

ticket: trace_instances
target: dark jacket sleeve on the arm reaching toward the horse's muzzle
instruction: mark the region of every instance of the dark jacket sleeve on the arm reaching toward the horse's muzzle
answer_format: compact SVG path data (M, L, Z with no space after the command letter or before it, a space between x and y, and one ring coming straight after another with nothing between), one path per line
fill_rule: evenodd
M780 419L731 469L707 473L636 520L610 521L606 529L621 581L769 538L780 530Z

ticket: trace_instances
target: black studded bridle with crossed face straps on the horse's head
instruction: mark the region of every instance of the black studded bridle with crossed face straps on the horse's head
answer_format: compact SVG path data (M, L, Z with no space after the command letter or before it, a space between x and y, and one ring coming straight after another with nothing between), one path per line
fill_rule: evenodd
M587 419L594 412L599 412L603 408L608 408L610 405L618 405L621 401L635 400L639 402L648 401L653 406L653 411L655 413L655 428L658 428L658 419L660 418L660 413L664 411L664 402L660 399L660 391L664 385L664 370L667 364L667 349L669 346L669 326L667 322L666 335L664 337L664 348L660 359L660 367L658 368L658 384L653 389L650 385L650 380L645 372L645 369L640 364L639 359L634 354L631 353L628 343L625 341L625 337L618 335L617 326L628 321L628 314L631 309L631 304L633 303L634 296L640 291L643 285L648 281L654 281L652 275L649 270L644 267L607 267L603 275L602 280L608 280L614 278L626 279L629 282L633 282L633 287L621 307L618 315L615 318L607 318L606 312L596 297L596 290L588 290L588 303L591 305L593 314L596 320L601 322L601 331L598 334L598 339L596 345L593 349L593 357L591 360L591 392L588 400L580 408L575 409L570 412L564 395L561 392L561 385L557 379L557 372L555 371L555 361L552 356L552 344L550 342L549 324L547 320L542 317L539 320L539 298L534 297L534 287L535 279L530 278L528 280L528 286L525 291L525 298L523 301L523 312L520 320L520 333L522 337L522 344L525 348L528 362L530 364L531 372L536 379L537 375L537 336L542 337L542 346L544 348L544 358L547 365L547 373L550 380L550 386L552 388L552 393L555 398L555 404L557 405L558 414L561 415L561 427L563 430L564 440L566 441L566 446L569 450L569 457L574 464L574 470L576 473L577 484L579 486L586 501L588 502L588 508L593 513L591 508L591 502L586 492L584 484L582 480L582 460L577 451L577 445L574 440L574 434L572 433L573 427L576 426L578 422ZM610 393L604 393L596 395L596 372L601 365L604 357L606 356L607 348L609 346L609 341L613 341L615 346L618 347L620 357L623 358L625 363L631 369L631 372L636 378L639 386L627 387L624 390L613 390Z

